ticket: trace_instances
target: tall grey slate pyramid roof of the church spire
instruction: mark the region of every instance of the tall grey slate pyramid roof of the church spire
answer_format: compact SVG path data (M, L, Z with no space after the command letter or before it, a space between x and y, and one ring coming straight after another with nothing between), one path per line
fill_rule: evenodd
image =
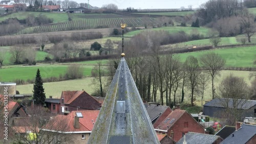
M160 143L124 57L88 143Z

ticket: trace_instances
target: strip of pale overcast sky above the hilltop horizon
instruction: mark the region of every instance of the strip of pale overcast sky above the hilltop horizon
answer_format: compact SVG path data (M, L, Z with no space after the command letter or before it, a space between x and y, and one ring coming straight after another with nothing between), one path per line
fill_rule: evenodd
M73 0L79 3L88 3L88 0ZM201 4L208 0L90 0L89 4L101 7L104 4L116 4L118 9L126 9L132 7L135 9L178 9L180 7L198 8Z

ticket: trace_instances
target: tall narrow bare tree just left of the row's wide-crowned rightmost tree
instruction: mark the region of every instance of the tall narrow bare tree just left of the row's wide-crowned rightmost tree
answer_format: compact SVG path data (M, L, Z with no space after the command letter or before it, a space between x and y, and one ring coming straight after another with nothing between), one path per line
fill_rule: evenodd
M184 63L184 67L189 80L188 87L190 87L191 90L191 106L194 106L194 92L196 90L196 86L199 84L201 73L199 70L199 62L194 56L188 56Z

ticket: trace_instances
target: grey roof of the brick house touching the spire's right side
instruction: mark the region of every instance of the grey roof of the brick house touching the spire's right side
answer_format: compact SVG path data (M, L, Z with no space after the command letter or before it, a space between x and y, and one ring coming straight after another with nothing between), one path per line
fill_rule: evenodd
M148 116L150 116L151 121L158 118L167 108L168 106L161 106L161 105L148 105L146 107L146 111Z

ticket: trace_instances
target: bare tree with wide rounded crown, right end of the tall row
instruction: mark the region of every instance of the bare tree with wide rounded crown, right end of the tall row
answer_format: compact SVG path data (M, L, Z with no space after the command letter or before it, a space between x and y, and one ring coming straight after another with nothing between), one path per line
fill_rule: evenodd
M216 53L207 53L201 56L200 62L202 64L202 67L206 69L206 73L211 76L212 99L214 99L215 98L214 79L217 75L220 74L220 70L225 65L226 61Z

